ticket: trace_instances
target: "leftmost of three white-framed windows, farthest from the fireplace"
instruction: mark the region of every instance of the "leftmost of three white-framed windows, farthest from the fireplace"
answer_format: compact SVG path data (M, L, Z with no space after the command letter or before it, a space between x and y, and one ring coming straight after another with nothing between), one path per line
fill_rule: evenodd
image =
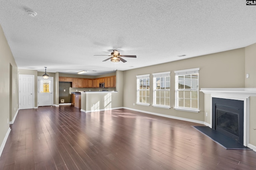
M149 106L149 75L139 75L137 77L137 104Z

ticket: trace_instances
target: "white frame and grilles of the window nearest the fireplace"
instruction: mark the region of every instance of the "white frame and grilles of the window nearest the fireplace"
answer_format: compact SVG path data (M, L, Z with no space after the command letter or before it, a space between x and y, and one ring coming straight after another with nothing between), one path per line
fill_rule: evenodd
M183 110L183 111L192 111L192 112L199 112L199 70L200 68L192 68L192 69L187 69L187 70L178 70L178 71L174 71L175 73L175 107L174 109L176 110ZM197 78L197 89L178 89L178 76L180 75L188 75L188 74L198 74L198 78ZM190 79L192 80L192 79ZM191 82L192 83L192 82ZM197 108L191 108L191 104L190 107L180 107L179 106L179 96L178 96L178 92L179 91L197 91ZM192 97L190 94L190 101L192 101Z

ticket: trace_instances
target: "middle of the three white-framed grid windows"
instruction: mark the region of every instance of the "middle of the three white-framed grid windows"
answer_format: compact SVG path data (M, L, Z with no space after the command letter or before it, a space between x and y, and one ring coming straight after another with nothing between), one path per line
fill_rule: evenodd
M170 72L153 73L154 105L170 108Z

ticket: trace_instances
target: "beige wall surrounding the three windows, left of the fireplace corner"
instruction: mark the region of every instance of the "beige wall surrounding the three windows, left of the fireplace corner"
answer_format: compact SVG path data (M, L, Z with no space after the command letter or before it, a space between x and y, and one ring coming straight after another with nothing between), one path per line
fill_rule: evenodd
M244 48L224 51L170 63L147 66L124 71L124 107L167 116L204 121L204 94L199 93L199 113L178 111L175 106L175 70L200 68L200 88L243 88L244 87ZM150 105L153 104L152 73L170 71L170 106L171 109L136 105L136 75L150 74Z

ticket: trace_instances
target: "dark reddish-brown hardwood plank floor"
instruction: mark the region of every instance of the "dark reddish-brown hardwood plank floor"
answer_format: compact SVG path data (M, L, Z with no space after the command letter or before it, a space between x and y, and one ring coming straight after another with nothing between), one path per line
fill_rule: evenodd
M226 150L187 121L127 109L20 110L0 170L252 170L253 150Z

